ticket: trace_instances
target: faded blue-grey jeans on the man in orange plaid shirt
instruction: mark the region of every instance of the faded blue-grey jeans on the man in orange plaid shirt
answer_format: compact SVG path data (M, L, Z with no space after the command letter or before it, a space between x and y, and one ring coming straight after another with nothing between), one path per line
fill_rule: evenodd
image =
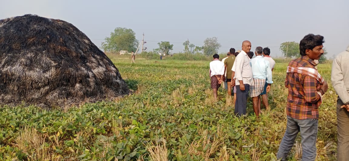
M276 158L283 161L286 160L290 152L298 132L300 131L302 143L302 161L314 161L316 158L316 138L318 136L318 119L308 118L298 120L287 116L286 132L281 140L279 151Z

